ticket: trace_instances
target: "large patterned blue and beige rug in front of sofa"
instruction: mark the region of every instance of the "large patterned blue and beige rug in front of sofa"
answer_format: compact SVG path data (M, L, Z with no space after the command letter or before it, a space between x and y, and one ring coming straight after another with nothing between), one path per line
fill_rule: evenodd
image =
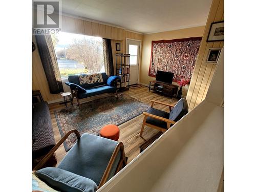
M104 125L120 125L150 108L147 104L128 95L119 94L118 97L118 99L115 96L105 97L83 103L82 111L77 105L69 109L54 111L61 137L72 129L78 130L80 134L99 135ZM71 134L63 143L66 152L75 142L76 136Z

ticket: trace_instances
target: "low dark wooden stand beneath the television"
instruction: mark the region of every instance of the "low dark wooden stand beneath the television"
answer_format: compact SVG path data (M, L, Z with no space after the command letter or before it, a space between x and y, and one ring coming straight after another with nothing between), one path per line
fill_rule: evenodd
M179 86L175 86L174 84L153 80L150 81L150 87L148 88L148 92L150 92L150 90L153 90L168 95L170 96L170 98L172 98L173 95L177 97L178 88Z

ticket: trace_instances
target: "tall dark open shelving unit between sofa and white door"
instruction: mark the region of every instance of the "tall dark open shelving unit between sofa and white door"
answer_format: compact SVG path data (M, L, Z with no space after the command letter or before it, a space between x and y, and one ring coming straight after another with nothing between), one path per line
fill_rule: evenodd
M116 53L116 75L119 76L118 91L129 90L130 87L130 54ZM126 86L128 83L128 87Z

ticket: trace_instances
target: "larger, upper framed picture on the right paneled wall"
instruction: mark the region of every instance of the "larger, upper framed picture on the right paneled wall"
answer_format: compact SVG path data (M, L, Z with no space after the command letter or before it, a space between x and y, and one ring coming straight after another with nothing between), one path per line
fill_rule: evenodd
M224 40L224 20L221 22L211 23L207 42L222 40Z

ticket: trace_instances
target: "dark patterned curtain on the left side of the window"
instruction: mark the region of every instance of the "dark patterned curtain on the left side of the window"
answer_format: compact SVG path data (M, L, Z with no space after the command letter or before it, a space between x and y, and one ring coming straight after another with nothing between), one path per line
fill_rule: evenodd
M59 67L50 35L36 35L36 44L51 94L63 92Z

